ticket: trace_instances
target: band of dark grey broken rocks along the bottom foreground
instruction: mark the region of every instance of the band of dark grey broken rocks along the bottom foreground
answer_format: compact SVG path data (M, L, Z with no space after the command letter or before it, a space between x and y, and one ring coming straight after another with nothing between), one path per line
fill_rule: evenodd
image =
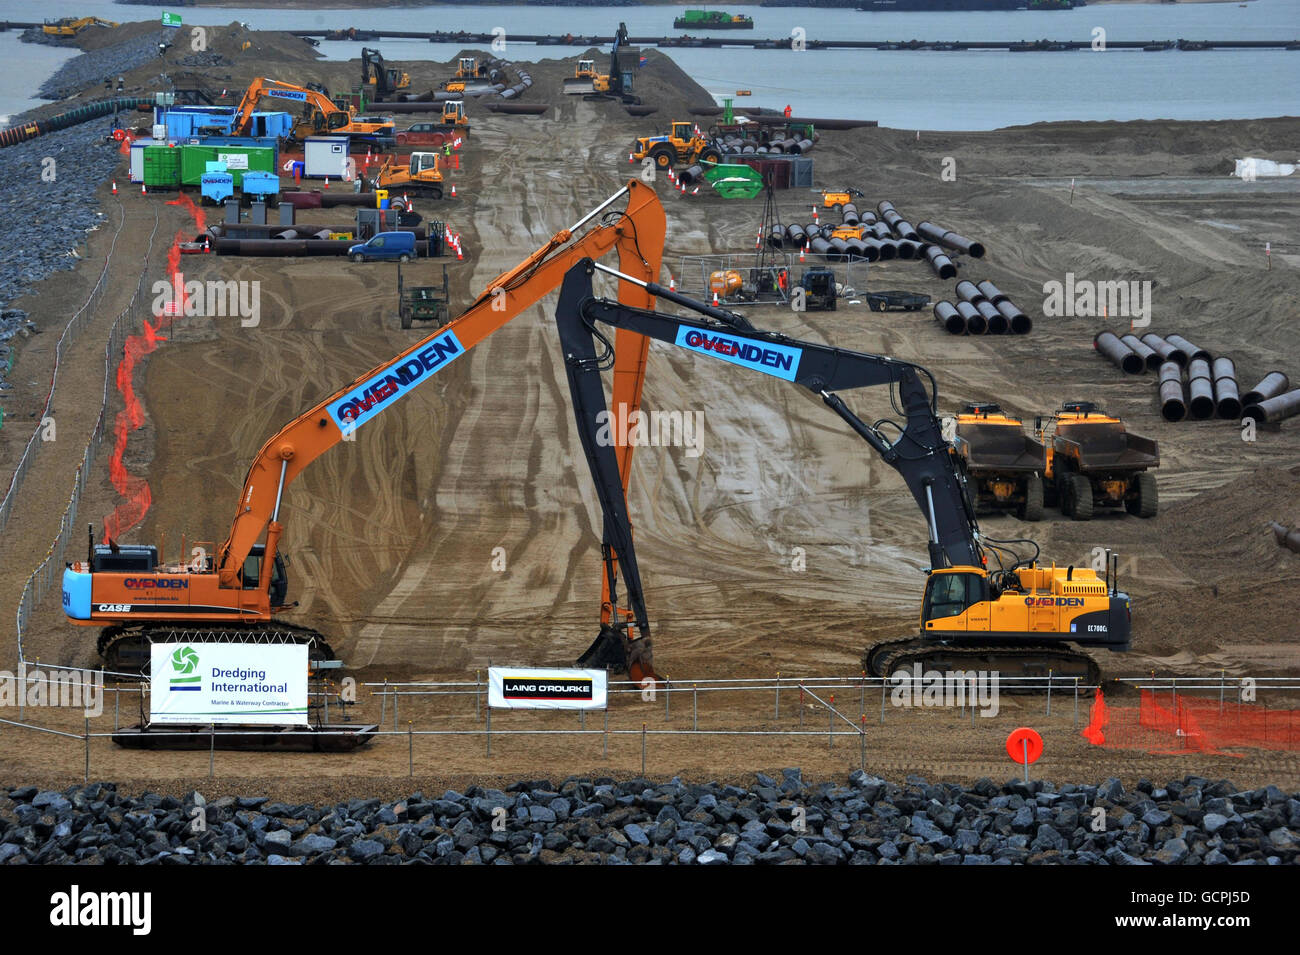
M205 803L198 793L129 799L112 783L0 796L0 863L10 865L1258 865L1294 863L1297 833L1295 794L1200 777L1130 793L1118 780L1061 789L980 780L967 789L919 777L898 786L863 772L846 785L809 786L786 769L748 787L538 780L324 807L264 796Z

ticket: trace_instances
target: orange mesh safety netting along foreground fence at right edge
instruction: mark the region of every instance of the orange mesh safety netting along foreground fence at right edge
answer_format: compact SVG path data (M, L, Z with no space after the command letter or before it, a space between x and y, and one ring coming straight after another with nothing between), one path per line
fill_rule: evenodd
M1143 690L1136 707L1106 703L1101 690L1080 735L1093 746L1148 752L1206 752L1253 747L1300 750L1300 711L1270 709L1201 696Z

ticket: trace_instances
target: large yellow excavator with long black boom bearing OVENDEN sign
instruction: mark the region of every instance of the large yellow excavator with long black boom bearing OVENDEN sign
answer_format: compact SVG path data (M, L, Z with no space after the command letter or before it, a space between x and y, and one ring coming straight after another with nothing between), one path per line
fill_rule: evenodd
M597 270L623 283L642 281L594 261L577 262L560 288L555 322L578 435L604 518L607 586L612 591L621 569L632 615L630 620L602 628L580 665L620 665L625 660L636 664L650 633L625 485L620 486L615 448L601 440L602 422L608 420L601 372L616 361L616 346L598 329L602 325L807 388L904 478L926 518L930 539L920 634L868 647L863 667L872 676L890 676L920 664L927 669L996 669L1004 676L1024 677L1045 677L1050 670L1057 677L1096 683L1097 664L1069 644L1128 650L1130 600L1118 587L1114 555L1108 554L1101 577L1093 569L1041 567L1032 542L998 541L980 533L965 478L942 437L937 388L928 370L898 359L760 331L744 316L649 281L645 290L650 295L698 317L662 314L595 298L592 275ZM893 408L905 421L867 424L837 394L870 386L888 386ZM1034 547L1032 556L1023 557L1011 548L1020 543ZM996 568L989 568L989 555Z

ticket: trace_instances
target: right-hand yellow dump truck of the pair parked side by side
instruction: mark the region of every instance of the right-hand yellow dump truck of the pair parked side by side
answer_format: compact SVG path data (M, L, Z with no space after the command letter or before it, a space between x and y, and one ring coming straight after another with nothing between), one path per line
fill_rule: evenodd
M1156 476L1160 448L1150 438L1124 429L1092 401L1066 401L1040 437L1052 433L1044 472L1048 503L1076 521L1092 520L1097 508L1124 508L1154 517L1160 507Z

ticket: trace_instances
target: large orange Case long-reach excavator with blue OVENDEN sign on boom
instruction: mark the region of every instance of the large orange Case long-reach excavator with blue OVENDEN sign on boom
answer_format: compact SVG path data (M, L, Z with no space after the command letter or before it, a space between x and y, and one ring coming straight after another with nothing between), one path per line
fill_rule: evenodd
M627 199L623 209L614 208ZM653 187L636 179L595 209L488 285L455 321L443 325L400 355L370 369L299 414L257 452L235 509L230 534L216 556L186 565L160 565L157 548L146 544L95 544L84 561L64 570L64 613L78 626L101 628L99 654L108 668L138 670L148 664L150 643L264 642L306 643L313 659L332 659L325 637L278 618L291 609L289 577L281 551L285 528L280 505L285 490L317 457L358 427L500 329L524 309L559 288L568 269L614 251L624 274L638 282L619 286L628 305L653 308L646 291L659 275L667 231L663 205ZM614 395L640 408L650 340L619 331ZM632 470L632 446L616 448L624 491ZM602 633L625 626L630 611L616 605L606 574L601 607ZM599 638L598 638L599 641ZM654 677L649 635L628 637L623 668L636 680Z

